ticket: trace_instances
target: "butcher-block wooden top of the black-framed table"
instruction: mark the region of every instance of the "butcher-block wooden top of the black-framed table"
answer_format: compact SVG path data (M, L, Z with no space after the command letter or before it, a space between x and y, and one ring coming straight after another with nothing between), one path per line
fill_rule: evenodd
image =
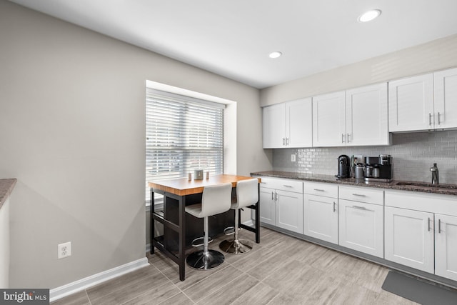
M236 187L236 182L246 179L252 179L251 176L236 176L236 175L214 175L210 176L209 179L189 181L187 178L160 180L149 182L150 188L167 191L171 194L178 196L186 196L191 194L199 194L203 192L205 186L211 186L216 184L231 183L232 187ZM258 178L260 182L260 178Z

